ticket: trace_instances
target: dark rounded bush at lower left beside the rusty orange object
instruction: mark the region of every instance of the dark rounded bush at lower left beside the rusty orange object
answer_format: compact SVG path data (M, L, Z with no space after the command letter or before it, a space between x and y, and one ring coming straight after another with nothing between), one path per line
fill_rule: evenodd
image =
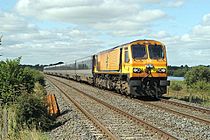
M41 130L48 130L53 124L43 97L36 94L23 94L19 97L16 122L19 128L26 126Z

